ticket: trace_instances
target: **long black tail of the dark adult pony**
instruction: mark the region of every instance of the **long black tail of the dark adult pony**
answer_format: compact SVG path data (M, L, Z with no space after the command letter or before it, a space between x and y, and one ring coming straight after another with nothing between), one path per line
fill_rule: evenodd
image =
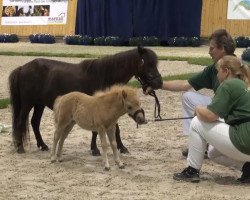
M9 76L10 103L12 108L12 136L16 147L26 142L28 129L28 116L22 118L21 93L20 93L20 72L21 67L14 69Z

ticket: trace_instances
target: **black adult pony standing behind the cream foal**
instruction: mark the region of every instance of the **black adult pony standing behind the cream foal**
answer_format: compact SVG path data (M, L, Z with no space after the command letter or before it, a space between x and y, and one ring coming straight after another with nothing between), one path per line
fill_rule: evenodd
M158 89L162 77L157 69L157 56L147 48L106 56L100 59L84 60L78 64L49 59L34 59L13 70L9 76L10 99L12 105L13 140L18 153L24 153L23 142L28 130L28 116L34 112L31 125L38 148L48 150L40 134L40 122L45 106L53 108L57 96L72 91L92 95L117 83L127 83L133 76L146 85ZM93 132L91 150L100 155L96 145L97 133ZM128 150L121 142L119 126L116 126L117 148Z

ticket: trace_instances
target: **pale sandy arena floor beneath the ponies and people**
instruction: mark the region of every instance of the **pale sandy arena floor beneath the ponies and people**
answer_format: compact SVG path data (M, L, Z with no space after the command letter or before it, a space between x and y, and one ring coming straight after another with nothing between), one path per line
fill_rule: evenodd
M1 49L20 51L89 51L94 47L56 45L15 44ZM104 50L105 49L105 50ZM95 47L95 51L116 53L125 48ZM200 49L155 48L158 55L207 56L207 47ZM199 51L200 50L200 51ZM242 49L237 51L240 55ZM8 97L7 79L16 67L35 57L0 56L0 98ZM53 58L67 62L79 62L79 58ZM162 75L200 71L203 66L189 65L186 62L160 61ZM202 91L211 95L208 91ZM144 96L141 91L142 107L148 119L153 118L154 99ZM179 92L157 91L161 103L162 116L181 116ZM0 123L10 124L10 108L0 110ZM235 179L240 171L227 168L210 160L205 160L199 184L176 182L172 179L186 165L181 149L186 147L187 138L182 135L181 121L149 122L136 128L136 124L124 115L119 119L121 137L130 154L122 154L126 168L115 165L109 149L111 171L103 170L102 158L90 154L91 133L75 126L65 141L64 162L50 163L50 152L42 152L36 147L30 127L30 139L25 154L17 154L9 132L0 133L0 199L250 199L249 186L238 184ZM54 131L53 115L45 110L41 132L49 147ZM100 143L98 140L98 146Z

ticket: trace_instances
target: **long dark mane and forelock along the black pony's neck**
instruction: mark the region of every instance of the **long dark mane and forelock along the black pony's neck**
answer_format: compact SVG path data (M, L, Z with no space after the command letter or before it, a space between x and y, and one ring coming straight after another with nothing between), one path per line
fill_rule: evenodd
M134 75L138 75L143 57L147 58L147 62L157 62L155 53L150 49L143 48L139 53L138 49L134 48L103 58L84 60L80 65L88 76L98 77L96 81L102 88L105 88L107 85L115 84L118 77L123 80L124 74L127 74L128 78L122 81L123 83L128 82Z

